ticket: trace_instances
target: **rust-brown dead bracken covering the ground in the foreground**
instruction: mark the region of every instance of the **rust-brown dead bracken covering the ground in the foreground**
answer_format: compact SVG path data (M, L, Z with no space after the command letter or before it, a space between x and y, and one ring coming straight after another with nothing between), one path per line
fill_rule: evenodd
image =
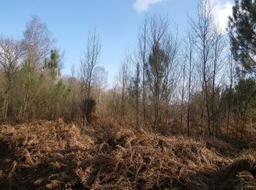
M256 189L256 153L101 122L0 124L0 189Z

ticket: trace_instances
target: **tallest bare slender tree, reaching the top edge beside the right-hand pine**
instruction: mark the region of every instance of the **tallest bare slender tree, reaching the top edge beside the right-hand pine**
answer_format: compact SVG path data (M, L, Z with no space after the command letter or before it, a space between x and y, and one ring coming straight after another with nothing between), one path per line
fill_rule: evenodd
M190 24L196 40L195 45L198 53L198 68L200 68L199 74L201 77L202 95L206 99L203 104L206 105L209 136L212 135L209 85L211 83L211 64L214 52L214 40L216 39L216 34L214 32L215 25L212 18L213 8L210 0L200 0L197 6L197 17L195 20L191 20ZM203 100L204 98L202 97L202 101Z

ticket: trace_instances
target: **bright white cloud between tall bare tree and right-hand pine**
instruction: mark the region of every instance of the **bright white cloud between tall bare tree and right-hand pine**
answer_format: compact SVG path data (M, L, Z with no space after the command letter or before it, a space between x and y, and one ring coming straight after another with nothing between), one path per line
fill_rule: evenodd
M223 4L221 1L217 1L216 6L213 10L213 18L215 23L219 26L219 29L223 34L226 33L228 17L232 15L233 3L231 1L226 1Z

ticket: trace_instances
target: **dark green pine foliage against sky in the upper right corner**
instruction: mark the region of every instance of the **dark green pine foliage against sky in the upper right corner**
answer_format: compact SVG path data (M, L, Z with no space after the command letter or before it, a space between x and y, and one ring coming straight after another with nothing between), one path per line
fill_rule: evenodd
M245 72L256 74L256 1L236 0L229 30L231 48Z

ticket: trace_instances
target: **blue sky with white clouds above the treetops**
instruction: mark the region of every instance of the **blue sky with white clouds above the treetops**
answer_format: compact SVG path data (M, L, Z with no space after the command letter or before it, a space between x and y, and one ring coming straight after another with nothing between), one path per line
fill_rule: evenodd
M195 0L0 0L0 34L21 38L26 23L37 15L57 40L56 47L65 51L63 75L71 65L79 69L80 55L89 30L97 27L102 42L98 66L104 66L109 83L118 70L126 50L137 43L140 22L148 12L168 15L184 33L187 15L195 12ZM216 0L214 18L225 26L233 1ZM175 23L175 24L174 24ZM179 35L181 37L181 35Z

